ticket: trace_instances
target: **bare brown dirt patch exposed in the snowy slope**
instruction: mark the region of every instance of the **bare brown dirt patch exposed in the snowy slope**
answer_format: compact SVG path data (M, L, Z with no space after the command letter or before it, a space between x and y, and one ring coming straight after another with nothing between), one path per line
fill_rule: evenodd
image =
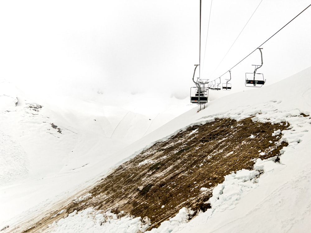
M71 202L62 209L71 213L95 207L148 216L151 228L182 207L205 211L210 208L207 201L212 189L224 181L225 175L242 168L251 170L257 158L276 157L278 161L279 150L287 143L272 133L288 126L285 122L252 122L251 118L216 119L191 126L120 165L88 191L92 198ZM209 192L200 191L201 187ZM34 231L35 227L27 232Z

